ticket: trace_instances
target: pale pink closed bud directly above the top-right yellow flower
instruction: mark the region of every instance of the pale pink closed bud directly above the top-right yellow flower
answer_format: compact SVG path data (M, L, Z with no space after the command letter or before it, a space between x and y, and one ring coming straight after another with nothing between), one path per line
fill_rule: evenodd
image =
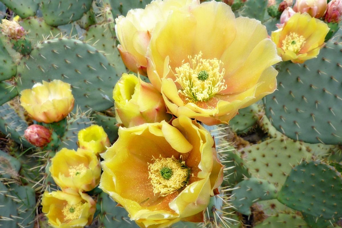
M312 17L320 18L327 9L327 0L297 0L293 10L300 13L308 13Z

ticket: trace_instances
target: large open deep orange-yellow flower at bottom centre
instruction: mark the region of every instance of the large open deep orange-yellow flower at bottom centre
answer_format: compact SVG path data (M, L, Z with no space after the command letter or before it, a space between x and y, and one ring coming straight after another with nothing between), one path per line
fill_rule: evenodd
M203 210L223 180L214 140L185 116L119 128L119 139L101 156L100 188L140 227L203 222Z

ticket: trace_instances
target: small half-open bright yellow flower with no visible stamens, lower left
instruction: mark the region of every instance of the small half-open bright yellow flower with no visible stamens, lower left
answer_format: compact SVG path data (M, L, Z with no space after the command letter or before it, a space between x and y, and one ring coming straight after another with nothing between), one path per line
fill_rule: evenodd
M94 124L78 132L78 144L80 148L93 151L97 155L106 151L110 141L102 126Z

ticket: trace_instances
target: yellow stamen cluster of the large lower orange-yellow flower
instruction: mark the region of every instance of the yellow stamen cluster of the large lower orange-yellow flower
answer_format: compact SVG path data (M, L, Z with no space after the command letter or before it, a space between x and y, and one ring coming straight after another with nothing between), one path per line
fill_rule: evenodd
M171 158L155 159L154 163L148 164L148 178L151 180L154 194L167 196L189 182L190 169L184 161Z

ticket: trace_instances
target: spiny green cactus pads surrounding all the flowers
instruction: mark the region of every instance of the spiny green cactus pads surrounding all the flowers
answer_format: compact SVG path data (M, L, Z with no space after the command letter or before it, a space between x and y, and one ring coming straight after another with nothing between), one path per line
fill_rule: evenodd
M77 150L78 132L92 124L112 143L118 138L112 92L129 70L116 48L114 19L150 2L0 0L0 18L19 16L27 31L15 41L0 32L0 227L51 227L40 203L44 191L58 189L49 173L56 151ZM280 23L280 0L222 2L236 17L261 21L269 34ZM342 29L330 26L317 58L275 66L273 94L241 109L228 125L206 126L225 165L220 194L211 198L203 223L171 227L341 228ZM37 123L19 95L54 79L71 85L75 107L62 122L44 125L55 138L35 147L24 131ZM89 228L138 227L102 190L87 193L97 202Z

